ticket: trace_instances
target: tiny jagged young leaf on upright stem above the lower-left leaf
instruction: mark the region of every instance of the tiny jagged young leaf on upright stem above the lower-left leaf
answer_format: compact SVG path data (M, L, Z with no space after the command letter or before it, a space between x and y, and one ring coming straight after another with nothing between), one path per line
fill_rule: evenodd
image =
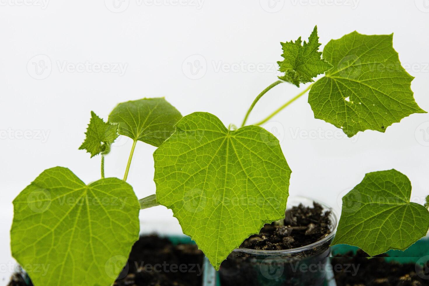
M85 141L79 150L86 149L91 158L98 154L108 154L110 145L118 138L118 126L105 123L103 119L91 111L91 120L86 131Z

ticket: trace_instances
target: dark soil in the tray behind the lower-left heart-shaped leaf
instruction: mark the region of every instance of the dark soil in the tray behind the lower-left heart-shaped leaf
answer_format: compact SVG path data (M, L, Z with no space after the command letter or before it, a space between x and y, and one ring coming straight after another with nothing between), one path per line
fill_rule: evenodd
M203 259L204 254L195 244L173 245L157 235L141 236L113 286L199 286ZM17 273L8 286L27 284Z

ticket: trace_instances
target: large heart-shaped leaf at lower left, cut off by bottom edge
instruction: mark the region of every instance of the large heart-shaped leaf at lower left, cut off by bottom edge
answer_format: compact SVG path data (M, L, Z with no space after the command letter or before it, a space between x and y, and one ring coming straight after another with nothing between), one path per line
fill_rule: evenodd
M12 256L35 286L110 286L139 238L139 202L117 178L85 185L55 167L13 204Z

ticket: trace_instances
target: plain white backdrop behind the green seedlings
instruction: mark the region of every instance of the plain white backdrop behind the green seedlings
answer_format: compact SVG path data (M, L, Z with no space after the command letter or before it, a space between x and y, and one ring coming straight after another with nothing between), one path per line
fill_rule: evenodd
M118 102L165 96L184 115L208 111L226 125L238 125L254 97L276 80L279 42L307 39L315 24L323 45L353 30L394 33L394 48L416 77L414 97L429 110L428 0L124 0L116 6L114 0L25 1L0 0L2 284L13 270L9 229L15 196L53 166L66 166L88 183L100 178L100 157L78 150L91 110L107 119ZM82 63L91 66L81 70ZM97 69L101 64L104 71ZM304 88L275 87L250 123ZM335 207L366 172L391 168L410 178L413 200L421 202L429 194L428 127L428 114L414 114L385 133L347 138L314 119L307 96L267 125L293 170L290 194ZM112 148L107 176L122 178L131 143L122 138ZM142 142L136 148L128 182L139 198L155 192L154 149ZM143 231L160 222L166 226L160 231L180 232L162 206L140 217Z

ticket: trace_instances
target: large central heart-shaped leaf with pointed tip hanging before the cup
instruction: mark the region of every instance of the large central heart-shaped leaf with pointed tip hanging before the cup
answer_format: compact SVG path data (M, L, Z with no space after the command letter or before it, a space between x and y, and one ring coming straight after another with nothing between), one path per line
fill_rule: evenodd
M291 171L261 127L231 131L213 114L192 113L154 160L158 202L215 268L264 223L284 217Z

